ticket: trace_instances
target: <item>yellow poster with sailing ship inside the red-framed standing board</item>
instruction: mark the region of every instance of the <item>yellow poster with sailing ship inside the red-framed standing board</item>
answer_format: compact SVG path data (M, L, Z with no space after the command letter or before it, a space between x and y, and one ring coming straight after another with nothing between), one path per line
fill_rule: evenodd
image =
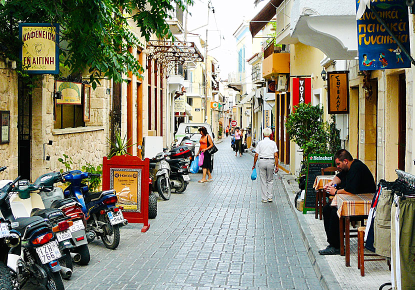
M141 169L110 168L109 183L118 197L116 206L124 211L141 212Z

